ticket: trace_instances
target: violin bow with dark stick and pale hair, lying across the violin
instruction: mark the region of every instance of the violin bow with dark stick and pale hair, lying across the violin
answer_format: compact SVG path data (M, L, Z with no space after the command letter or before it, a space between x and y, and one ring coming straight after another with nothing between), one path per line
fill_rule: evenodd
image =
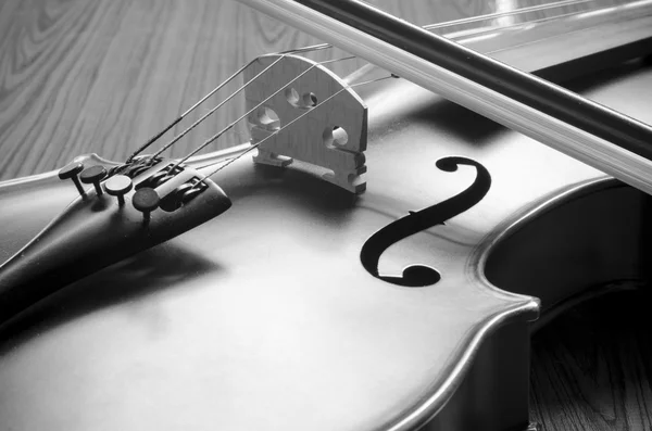
M359 0L239 1L652 194L644 123Z

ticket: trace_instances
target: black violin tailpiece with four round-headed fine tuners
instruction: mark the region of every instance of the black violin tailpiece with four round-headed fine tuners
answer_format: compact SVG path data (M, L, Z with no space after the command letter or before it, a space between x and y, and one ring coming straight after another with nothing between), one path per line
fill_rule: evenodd
M82 162L71 163L60 170L60 178L79 182L80 166ZM0 266L0 324L57 290L193 229L231 205L213 181L171 160L143 157L108 172L96 165L82 172L82 182L85 172L102 175L91 176L89 181L97 185L80 187L79 198Z

